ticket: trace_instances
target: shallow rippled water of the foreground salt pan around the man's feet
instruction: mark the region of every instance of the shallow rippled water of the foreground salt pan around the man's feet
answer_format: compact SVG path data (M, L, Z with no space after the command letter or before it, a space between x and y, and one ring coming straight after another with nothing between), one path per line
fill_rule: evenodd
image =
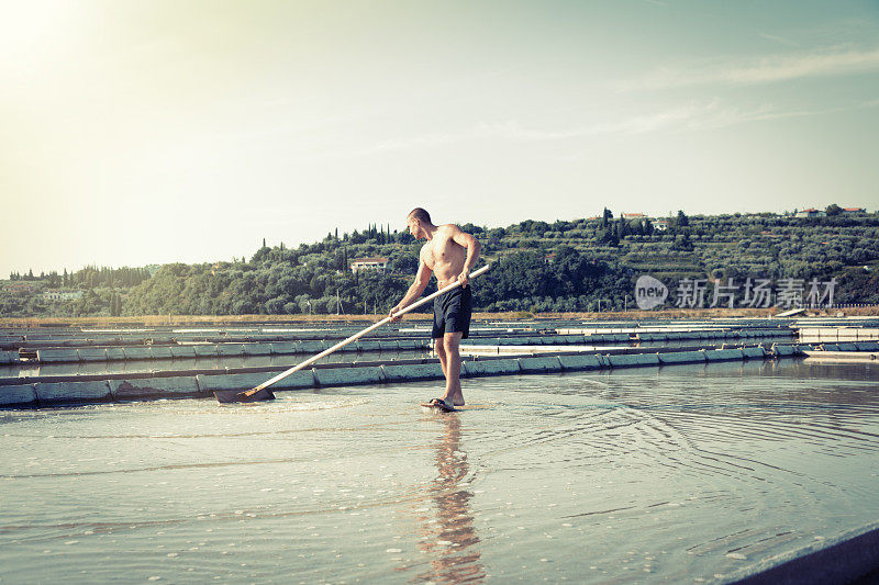
M0 412L0 578L723 581L879 514L879 369L801 360Z

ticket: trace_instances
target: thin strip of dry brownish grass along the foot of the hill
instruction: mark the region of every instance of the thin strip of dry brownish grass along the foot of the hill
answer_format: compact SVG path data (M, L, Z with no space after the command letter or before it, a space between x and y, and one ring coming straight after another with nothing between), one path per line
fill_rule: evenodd
M831 311L810 310L800 316L835 317L844 316L879 316L879 306L845 307ZM774 308L702 308L661 311L627 311L602 313L474 313L474 322L533 319L583 319L583 320L638 320L657 318L771 318ZM0 317L0 327L75 327L75 326L196 326L196 325L286 325L286 324L321 324L321 323L375 323L386 315L142 315L142 316L90 316L90 317ZM403 320L420 322L431 318L429 313L412 313L403 316Z

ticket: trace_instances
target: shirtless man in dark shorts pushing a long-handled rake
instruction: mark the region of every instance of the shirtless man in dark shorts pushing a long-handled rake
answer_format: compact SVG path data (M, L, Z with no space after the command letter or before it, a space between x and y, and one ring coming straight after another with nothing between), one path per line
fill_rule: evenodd
M443 374L446 376L446 392L442 398L434 398L431 404L450 408L461 406L464 394L460 391L460 352L461 339L467 339L470 330L470 269L479 258L481 246L470 234L466 234L454 224L433 225L431 215L415 207L405 218L409 233L415 239L425 238L419 254L419 271L415 281L403 299L391 308L390 316L413 303L424 292L431 272L436 275L437 289L460 282L445 294L441 294L433 303L433 340L434 350L439 357ZM444 404L438 404L442 401Z

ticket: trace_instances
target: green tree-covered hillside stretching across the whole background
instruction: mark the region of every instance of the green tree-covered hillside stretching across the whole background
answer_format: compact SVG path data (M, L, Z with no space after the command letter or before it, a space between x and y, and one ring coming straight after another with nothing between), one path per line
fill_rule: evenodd
M879 217L799 218L732 214L667 218L600 216L461 227L482 243L494 268L475 283L480 311L590 311L633 306L634 281L652 274L674 291L682 279L836 278L837 303L879 303ZM385 313L409 286L421 244L405 232L370 225L290 249L263 241L249 258L204 265L86 267L36 278L48 288L84 290L63 303L0 295L3 315L364 314ZM388 258L388 271L352 272L355 258ZM435 289L434 289L435 290ZM430 291L429 291L430 292ZM674 301L674 299L671 300ZM737 305L741 306L741 305Z

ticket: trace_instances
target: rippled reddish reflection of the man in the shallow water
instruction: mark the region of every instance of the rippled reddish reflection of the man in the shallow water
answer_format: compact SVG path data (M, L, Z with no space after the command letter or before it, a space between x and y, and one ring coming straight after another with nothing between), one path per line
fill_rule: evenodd
M430 567L412 583L481 583L486 576L479 562L479 537L474 527L469 502L474 494L461 488L469 474L467 453L460 451L460 418L438 417L444 426L434 460L438 475L429 487L436 508L436 520L421 516L423 538L419 548L432 556Z

